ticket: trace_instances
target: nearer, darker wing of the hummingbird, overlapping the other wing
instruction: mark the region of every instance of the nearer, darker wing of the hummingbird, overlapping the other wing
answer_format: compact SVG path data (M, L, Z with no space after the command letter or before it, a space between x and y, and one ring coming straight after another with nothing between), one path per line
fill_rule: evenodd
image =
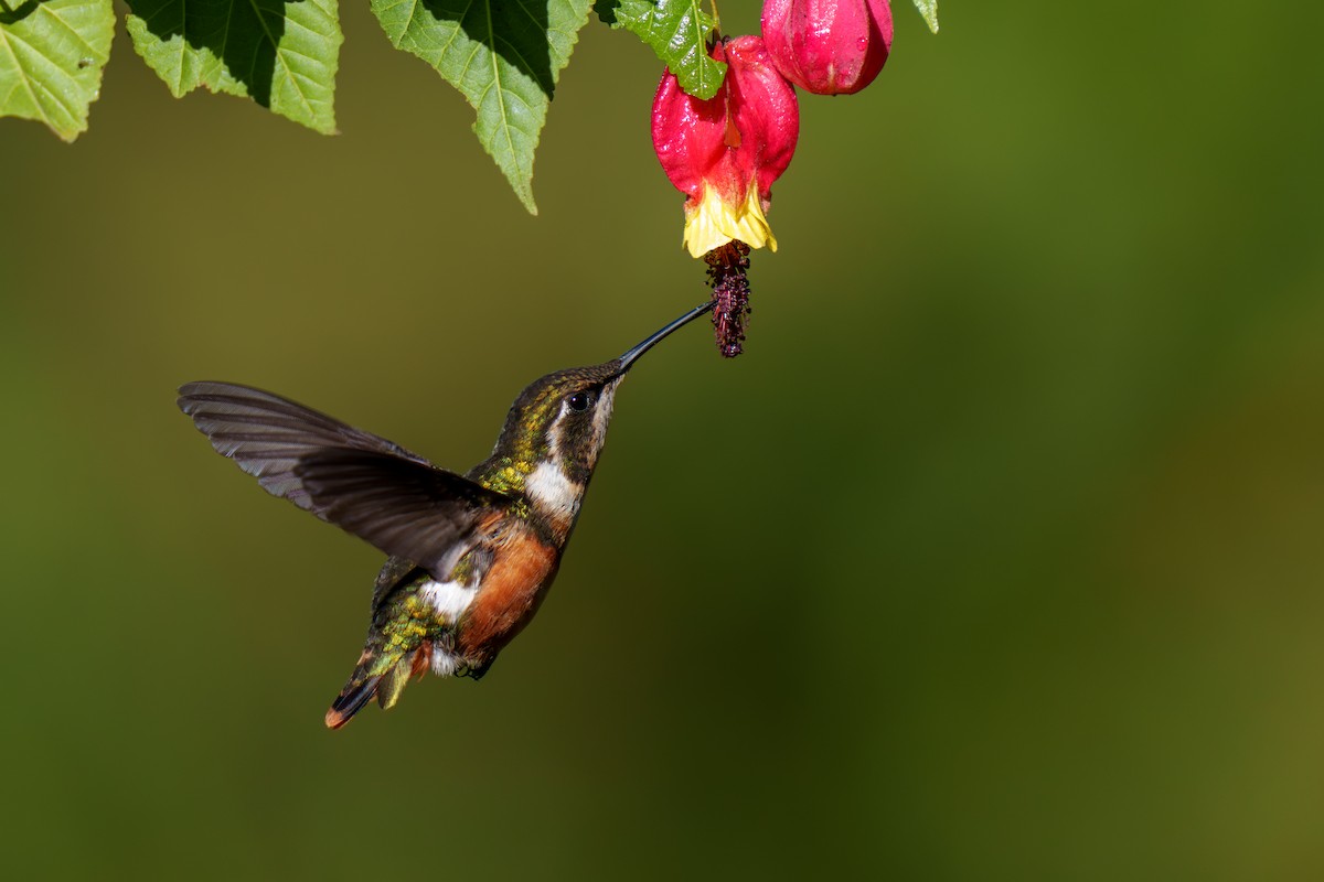
M391 454L322 450L294 475L332 524L445 579L510 497Z

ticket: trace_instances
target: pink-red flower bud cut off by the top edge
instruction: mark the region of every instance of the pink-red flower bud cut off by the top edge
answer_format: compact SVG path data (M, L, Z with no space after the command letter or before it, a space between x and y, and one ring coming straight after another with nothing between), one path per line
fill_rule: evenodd
M765 0L763 41L781 75L816 95L857 93L892 46L887 0Z

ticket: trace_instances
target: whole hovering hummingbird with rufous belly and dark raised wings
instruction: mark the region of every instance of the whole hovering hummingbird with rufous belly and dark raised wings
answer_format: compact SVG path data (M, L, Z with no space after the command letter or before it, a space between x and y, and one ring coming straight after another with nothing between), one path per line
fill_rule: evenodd
M273 496L388 558L354 673L326 714L339 729L410 677L481 678L556 578L612 419L639 356L708 312L704 303L620 358L530 383L491 456L465 475L311 407L250 386L191 382L177 405L222 456Z

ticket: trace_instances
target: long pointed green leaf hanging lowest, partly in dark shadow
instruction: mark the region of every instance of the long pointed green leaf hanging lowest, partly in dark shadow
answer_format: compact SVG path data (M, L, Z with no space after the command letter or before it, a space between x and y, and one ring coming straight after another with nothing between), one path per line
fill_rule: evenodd
M418 56L478 112L474 134L530 214L534 151L591 0L372 0L396 49Z

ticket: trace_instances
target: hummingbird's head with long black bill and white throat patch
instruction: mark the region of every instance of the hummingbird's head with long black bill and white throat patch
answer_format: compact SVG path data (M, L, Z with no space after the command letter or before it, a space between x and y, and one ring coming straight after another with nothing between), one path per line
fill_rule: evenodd
M708 312L695 307L620 358L557 370L531 382L506 417L491 459L479 467L493 489L523 491L552 524L573 524L606 442L616 390L639 356Z

